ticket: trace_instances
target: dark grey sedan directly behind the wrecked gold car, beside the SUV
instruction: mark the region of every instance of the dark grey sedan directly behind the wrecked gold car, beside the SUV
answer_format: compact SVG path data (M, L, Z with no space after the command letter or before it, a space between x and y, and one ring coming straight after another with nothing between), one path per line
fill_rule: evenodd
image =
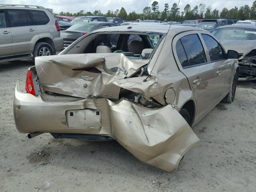
M100 28L113 27L117 24L110 22L80 22L78 24L72 25L68 30L61 31L60 36L64 40L64 48L67 48L75 40Z

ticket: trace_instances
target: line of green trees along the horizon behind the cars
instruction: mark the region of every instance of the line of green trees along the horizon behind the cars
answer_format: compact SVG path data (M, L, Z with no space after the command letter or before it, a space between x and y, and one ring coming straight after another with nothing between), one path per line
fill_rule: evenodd
M136 13L135 11L129 14L122 7L120 10L115 11L108 10L103 14L100 10L95 10L94 12L84 12L81 10L77 13L70 12L60 12L59 15L67 16L106 16L106 17L120 17L123 20L168 20L168 21L183 21L183 20L195 20L195 19L240 19L240 20L256 20L256 0L253 2L252 6L245 4L240 8L234 7L231 9L223 8L221 11L212 9L211 6L205 4L199 4L192 8L190 4L184 7L181 11L176 3L172 4L172 7L168 3L164 4L163 11L159 11L158 2L154 1L151 6L146 6L141 13Z

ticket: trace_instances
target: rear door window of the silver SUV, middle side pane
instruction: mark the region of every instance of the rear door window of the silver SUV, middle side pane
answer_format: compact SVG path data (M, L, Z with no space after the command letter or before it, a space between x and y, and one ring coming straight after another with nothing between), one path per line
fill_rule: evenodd
M29 21L25 10L8 10L10 27L29 26Z

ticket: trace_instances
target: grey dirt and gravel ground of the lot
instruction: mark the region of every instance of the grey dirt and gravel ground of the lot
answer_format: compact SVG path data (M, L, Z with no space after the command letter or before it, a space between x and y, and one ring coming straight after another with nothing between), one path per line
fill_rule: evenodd
M199 145L167 173L142 164L115 141L55 140L50 134L28 139L20 134L12 98L17 80L24 90L32 65L0 64L1 192L256 191L254 83L240 82L232 104L218 104L193 127Z

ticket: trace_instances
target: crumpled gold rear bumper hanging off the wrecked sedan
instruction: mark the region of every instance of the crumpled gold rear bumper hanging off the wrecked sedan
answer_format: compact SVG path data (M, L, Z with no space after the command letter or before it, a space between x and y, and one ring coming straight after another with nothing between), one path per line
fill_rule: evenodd
M21 93L18 85L13 108L16 127L22 133L110 136L142 162L168 172L177 168L184 154L199 141L184 118L171 105L149 109L127 100L44 102L40 95ZM83 109L100 110L100 126L69 128L67 115L70 112L67 111Z

